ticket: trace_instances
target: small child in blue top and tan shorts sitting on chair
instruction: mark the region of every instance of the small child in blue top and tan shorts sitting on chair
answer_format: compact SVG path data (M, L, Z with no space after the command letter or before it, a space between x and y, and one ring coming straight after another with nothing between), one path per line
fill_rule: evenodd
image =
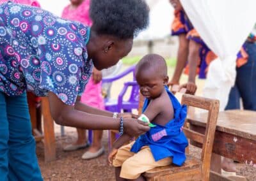
M131 140L127 134L113 143L108 160L116 167L116 180L145 180L141 175L145 171L171 163L181 166L186 160L188 140L182 126L187 108L168 90L164 58L145 55L136 66L135 76L145 97L139 119L151 128L128 145L124 145Z

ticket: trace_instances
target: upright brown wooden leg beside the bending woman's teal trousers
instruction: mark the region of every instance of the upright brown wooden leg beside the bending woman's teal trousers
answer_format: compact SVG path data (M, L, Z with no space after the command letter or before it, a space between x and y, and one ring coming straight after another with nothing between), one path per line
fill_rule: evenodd
M45 162L56 159L54 124L51 116L48 98L42 98L42 113L44 119L44 157Z

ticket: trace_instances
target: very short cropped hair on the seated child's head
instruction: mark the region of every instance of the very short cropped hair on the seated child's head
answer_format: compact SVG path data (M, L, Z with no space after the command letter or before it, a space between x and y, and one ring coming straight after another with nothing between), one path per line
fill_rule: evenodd
M142 57L136 66L135 73L137 74L138 71L142 70L154 71L154 73L157 73L161 76L167 76L166 61L161 55L157 54L148 54Z

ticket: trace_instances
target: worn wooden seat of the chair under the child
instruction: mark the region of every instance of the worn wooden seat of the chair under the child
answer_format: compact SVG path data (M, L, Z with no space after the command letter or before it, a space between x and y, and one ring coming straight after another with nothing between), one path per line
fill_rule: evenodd
M146 171L143 176L147 178L147 180L170 180L172 175L177 173L180 174L182 180L184 180L184 172L188 173L188 171L194 174L189 174L189 178L186 180L200 180L201 174L201 164L200 159L193 157L191 155L187 156L185 163L182 166L175 166L175 164L170 164L168 166L160 166L157 168L153 168L152 170ZM198 177L199 176L199 177ZM158 179L156 179L158 177ZM153 179L154 178L154 179ZM174 178L177 178L175 175Z

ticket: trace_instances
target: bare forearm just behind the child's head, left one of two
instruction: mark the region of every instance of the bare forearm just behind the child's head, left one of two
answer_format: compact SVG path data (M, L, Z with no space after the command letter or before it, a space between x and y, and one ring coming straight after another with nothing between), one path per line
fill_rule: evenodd
M186 34L180 34L177 64L175 66L175 71L173 73L172 80L168 83L168 85L179 84L180 76L186 65L186 62L188 61L188 45L189 41L186 39Z

